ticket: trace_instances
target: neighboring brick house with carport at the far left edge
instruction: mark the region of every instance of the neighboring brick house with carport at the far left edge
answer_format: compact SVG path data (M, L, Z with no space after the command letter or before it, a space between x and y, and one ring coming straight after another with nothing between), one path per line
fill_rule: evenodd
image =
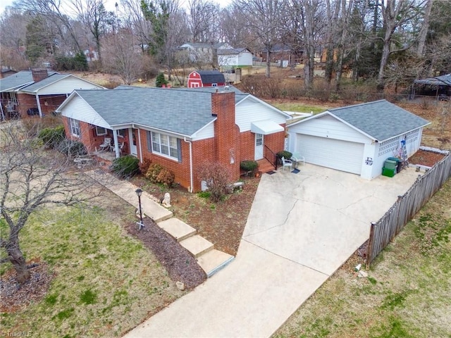
M74 89L105 89L72 74L23 70L0 80L1 120L54 113Z

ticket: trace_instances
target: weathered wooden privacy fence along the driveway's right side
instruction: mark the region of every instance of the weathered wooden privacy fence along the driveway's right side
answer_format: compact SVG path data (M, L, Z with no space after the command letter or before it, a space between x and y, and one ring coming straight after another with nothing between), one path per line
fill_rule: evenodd
M409 190L376 223L371 223L366 263L376 256L412 220L414 215L451 176L451 155L447 154L424 175L419 176Z

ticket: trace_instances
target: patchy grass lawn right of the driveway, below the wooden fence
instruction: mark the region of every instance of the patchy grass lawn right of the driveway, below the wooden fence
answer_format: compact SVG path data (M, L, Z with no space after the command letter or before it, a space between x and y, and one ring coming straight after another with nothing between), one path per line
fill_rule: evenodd
M273 335L451 337L451 180L359 278L345 264Z

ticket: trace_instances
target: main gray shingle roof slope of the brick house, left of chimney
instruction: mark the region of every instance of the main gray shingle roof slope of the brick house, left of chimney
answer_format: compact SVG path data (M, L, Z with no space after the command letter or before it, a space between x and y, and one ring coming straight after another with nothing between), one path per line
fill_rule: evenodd
M121 87L76 92L111 126L135 123L190 136L215 120L206 91Z

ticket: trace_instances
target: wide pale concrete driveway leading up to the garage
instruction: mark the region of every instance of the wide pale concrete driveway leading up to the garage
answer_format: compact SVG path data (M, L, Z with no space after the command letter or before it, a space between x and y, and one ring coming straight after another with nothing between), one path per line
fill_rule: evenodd
M235 260L125 337L269 337L416 180L315 165L263 175Z

